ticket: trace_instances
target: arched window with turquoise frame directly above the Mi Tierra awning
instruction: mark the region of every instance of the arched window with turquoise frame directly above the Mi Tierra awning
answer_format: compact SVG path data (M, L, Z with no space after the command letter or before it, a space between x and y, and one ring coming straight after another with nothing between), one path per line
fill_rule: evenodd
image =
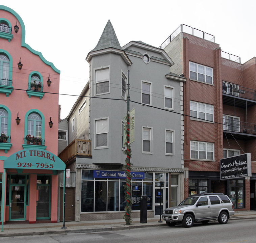
M37 113L28 116L28 133L31 137L42 137L42 117Z

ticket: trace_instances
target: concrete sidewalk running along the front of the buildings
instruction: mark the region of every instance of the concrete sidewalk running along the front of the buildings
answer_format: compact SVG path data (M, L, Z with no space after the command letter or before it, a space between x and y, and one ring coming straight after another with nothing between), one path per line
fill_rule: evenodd
M229 220L256 218L256 211L235 212ZM119 231L122 229L166 226L165 221L159 223L158 218L148 218L147 223L140 223L140 219L133 219L132 224L126 225L124 219L95 220L81 222L66 222L66 229L62 229L63 222L59 223L7 223L0 231L1 237L32 236L32 235L65 235L68 233L94 233L102 231Z

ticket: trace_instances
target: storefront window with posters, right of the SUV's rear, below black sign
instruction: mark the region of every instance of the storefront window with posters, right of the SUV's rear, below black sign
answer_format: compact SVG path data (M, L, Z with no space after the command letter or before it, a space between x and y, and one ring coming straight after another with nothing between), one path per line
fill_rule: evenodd
M236 208L245 208L244 200L244 181L229 180L229 198Z

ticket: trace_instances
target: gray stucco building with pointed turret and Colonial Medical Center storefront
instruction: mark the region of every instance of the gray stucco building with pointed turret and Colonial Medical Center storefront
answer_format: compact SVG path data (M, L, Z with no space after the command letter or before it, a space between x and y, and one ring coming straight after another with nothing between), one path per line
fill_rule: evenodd
M89 81L61 125L68 130L68 146L59 157L71 171L71 220L123 218L128 70L135 111L132 218L139 217L140 195L148 196L148 217L159 217L160 202L162 212L183 199L185 78L170 73L173 61L164 50L141 41L121 48L110 21L86 60ZM164 173L161 190L159 173Z

